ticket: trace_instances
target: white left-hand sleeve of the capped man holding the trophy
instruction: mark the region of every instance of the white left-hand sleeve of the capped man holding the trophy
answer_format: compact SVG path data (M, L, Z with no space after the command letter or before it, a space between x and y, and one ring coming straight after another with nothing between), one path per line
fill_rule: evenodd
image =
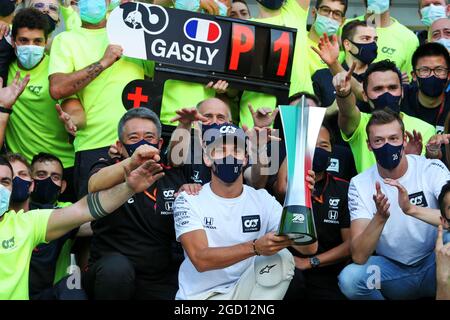
M177 241L180 241L180 236L187 232L203 230L202 220L195 208L186 199L185 192L182 192L175 200L173 218Z

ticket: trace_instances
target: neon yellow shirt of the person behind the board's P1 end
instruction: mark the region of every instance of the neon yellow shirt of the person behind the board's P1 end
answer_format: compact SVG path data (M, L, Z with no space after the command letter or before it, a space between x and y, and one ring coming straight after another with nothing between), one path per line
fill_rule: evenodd
M311 74L307 62L308 50L306 49L306 21L308 18L308 10L303 9L296 0L287 0L280 10L281 13L278 16L252 20L297 29L289 95L291 96L300 91L313 92ZM253 119L248 109L249 103L252 104L255 110L262 107L275 109L276 98L265 93L253 91L243 92L240 103L240 124L241 126L245 124L251 128L253 127Z

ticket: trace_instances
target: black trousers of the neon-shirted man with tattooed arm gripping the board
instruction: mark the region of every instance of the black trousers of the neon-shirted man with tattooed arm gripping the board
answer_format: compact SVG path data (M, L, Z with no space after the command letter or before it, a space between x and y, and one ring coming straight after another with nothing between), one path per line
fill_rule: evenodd
M109 147L78 151L75 153L75 166L73 172L73 181L77 199L83 198L88 194L89 174L92 166L101 158L108 157Z

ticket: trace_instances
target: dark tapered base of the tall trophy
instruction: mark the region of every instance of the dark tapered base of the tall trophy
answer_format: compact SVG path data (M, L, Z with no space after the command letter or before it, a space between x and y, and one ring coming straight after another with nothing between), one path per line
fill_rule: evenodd
M288 236L296 245L316 242L316 229L311 209L305 206L285 207L278 234Z

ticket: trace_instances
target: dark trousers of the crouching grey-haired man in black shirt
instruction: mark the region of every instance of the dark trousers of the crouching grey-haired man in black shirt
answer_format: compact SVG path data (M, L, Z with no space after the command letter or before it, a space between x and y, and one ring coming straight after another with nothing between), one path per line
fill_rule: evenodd
M173 300L178 290L178 270L168 270L157 281L149 281L136 275L126 256L111 253L89 266L82 283L94 300Z

